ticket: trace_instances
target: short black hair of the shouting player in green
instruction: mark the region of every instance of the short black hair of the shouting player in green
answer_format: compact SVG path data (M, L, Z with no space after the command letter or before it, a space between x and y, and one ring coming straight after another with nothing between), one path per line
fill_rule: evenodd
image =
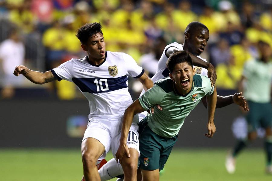
M166 62L166 67L172 73L174 67L178 63L187 62L193 68L193 61L186 51L178 51L173 53Z

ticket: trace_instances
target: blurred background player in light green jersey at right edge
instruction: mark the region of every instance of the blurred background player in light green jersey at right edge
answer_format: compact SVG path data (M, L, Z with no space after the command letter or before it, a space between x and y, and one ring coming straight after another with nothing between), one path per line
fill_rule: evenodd
M264 42L259 42L258 48L261 52L261 58L245 63L240 90L243 91L244 89L244 96L248 100L250 109L246 115L248 140L256 139L258 127L261 126L265 129L266 172L272 174L272 51L269 44ZM235 172L235 158L246 147L248 140L239 140L233 151L227 156L225 166L228 173Z

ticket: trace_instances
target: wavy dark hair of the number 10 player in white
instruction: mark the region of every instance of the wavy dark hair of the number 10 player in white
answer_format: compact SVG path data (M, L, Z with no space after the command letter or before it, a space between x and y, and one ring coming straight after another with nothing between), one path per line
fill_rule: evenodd
M86 44L89 38L96 33L101 33L103 35L101 29L101 24L97 22L85 24L77 30L76 37L80 40L81 43Z

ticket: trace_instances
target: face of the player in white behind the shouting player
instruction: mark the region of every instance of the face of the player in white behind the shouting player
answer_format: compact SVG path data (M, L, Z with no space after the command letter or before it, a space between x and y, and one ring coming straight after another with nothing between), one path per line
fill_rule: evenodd
M207 45L209 40L209 31L204 28L199 28L192 34L186 33L185 38L188 39L189 52L199 56L202 52L204 52Z

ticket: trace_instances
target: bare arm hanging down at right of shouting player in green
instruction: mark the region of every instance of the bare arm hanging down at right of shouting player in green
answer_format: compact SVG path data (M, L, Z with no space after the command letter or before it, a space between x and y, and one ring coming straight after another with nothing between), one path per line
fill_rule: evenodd
M213 119L214 119L215 106L216 106L216 100L217 100L216 87L214 87L213 93L209 96L206 96L206 98L207 98L207 105L208 105L208 123L207 123L208 133L206 133L205 135L208 138L212 138L213 134L215 133L215 125L214 125Z

